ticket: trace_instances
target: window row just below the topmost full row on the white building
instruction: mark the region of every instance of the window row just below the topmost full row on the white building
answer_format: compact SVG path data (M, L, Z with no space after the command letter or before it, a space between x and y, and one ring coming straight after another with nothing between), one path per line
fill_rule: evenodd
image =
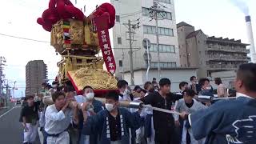
M144 34L156 34L155 26L143 26ZM165 27L158 27L159 35L174 36L174 30Z

